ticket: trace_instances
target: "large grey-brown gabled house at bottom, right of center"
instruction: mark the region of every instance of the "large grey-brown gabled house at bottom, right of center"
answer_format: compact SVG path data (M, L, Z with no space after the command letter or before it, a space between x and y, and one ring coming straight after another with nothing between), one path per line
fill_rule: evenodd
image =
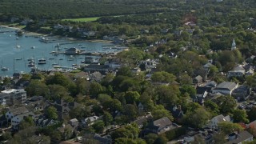
M149 125L146 127L146 130L150 133L162 134L166 131L173 130L174 128L175 126L173 126L173 123L170 122L170 119L164 117L150 122Z

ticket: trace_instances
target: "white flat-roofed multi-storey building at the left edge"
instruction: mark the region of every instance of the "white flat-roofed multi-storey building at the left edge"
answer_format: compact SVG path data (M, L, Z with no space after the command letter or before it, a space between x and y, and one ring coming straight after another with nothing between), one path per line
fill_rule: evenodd
M26 102L26 91L24 89L2 90L0 93L0 103L3 105L14 105Z

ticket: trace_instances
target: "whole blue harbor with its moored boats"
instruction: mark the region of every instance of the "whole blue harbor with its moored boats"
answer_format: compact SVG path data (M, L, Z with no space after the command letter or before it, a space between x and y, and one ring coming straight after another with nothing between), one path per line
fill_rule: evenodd
M75 70L85 57L99 58L103 54L121 51L113 44L103 42L33 34L17 36L14 29L6 27L0 27L0 31L0 76L12 76L21 71L30 73L31 70ZM113 48L106 48L110 46ZM79 53L66 54L70 48L79 50Z

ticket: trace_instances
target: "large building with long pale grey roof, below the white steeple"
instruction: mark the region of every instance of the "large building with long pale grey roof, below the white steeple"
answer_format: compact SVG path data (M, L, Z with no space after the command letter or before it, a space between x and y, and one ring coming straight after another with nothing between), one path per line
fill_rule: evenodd
M212 93L221 93L221 94L229 94L232 95L232 92L234 91L234 89L236 89L238 87L237 83L234 82L222 82L220 84L218 84L218 86L216 86L214 88L214 90L212 90Z

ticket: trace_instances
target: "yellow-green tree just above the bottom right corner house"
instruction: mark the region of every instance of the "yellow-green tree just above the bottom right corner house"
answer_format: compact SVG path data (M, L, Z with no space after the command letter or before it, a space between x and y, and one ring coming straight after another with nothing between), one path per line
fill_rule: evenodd
M218 127L224 134L230 134L234 131L242 131L243 128L237 123L233 122L219 122Z

